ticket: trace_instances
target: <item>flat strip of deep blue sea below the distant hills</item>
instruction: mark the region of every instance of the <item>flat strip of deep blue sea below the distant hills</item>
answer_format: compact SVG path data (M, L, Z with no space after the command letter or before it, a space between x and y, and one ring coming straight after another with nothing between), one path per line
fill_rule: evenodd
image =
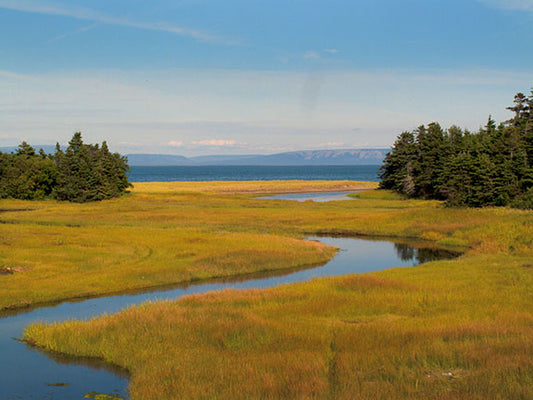
M327 180L377 182L379 165L131 167L130 182Z

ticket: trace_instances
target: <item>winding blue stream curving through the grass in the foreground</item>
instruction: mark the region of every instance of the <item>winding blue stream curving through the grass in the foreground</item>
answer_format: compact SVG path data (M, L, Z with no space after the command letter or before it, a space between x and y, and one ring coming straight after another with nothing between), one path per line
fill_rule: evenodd
M322 266L280 271L247 279L203 282L166 290L64 302L33 310L22 310L0 318L0 399L83 399L89 392L127 398L128 376L94 360L50 355L16 340L24 327L36 321L88 319L115 313L148 300L179 297L226 288L267 288L306 281L321 276L364 273L392 267L410 267L421 262L457 256L446 250L413 247L384 240L310 237L338 247L337 255Z

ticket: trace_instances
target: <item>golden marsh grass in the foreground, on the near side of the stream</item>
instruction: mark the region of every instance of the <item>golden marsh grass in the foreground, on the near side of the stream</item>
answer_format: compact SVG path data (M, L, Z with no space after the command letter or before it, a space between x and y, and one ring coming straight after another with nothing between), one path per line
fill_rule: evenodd
M132 399L531 398L532 274L487 261L191 296L26 337L128 368Z

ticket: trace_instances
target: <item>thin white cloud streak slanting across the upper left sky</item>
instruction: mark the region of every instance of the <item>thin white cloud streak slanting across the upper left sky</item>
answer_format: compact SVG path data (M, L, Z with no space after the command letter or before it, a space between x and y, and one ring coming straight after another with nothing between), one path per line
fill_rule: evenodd
M220 42L228 45L236 44L235 41L228 41L226 39L222 39L220 37L196 29L184 28L165 22L134 21L127 18L113 17L111 15L100 13L88 8L74 8L64 5L56 5L52 3L43 3L41 1L37 2L33 0L0 0L0 8L35 14L58 15L80 20L100 22L109 25L167 32L180 36L190 37L192 39L204 42Z

